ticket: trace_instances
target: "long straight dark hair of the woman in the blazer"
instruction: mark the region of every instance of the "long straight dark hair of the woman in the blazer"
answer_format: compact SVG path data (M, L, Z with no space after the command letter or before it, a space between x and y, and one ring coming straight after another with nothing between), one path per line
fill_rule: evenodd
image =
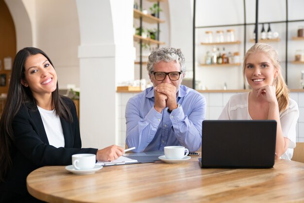
M36 54L44 55L53 66L49 56L42 50L34 47L21 49L14 59L6 103L0 118L0 181L4 181L7 171L12 166L11 148L14 144L12 122L14 117L23 104L30 110L37 111L36 102L31 89L21 84L21 79L25 79L24 63L30 55ZM63 101L62 96L59 95L58 82L56 86L56 90L52 92L52 103L55 107L56 115L63 117L69 122L73 122L67 104Z

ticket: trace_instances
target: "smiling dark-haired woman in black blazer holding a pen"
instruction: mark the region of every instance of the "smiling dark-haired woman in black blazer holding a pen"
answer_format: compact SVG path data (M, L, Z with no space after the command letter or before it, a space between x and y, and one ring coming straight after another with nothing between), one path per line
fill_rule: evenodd
M81 148L75 105L59 95L50 58L34 47L20 50L0 119L0 203L41 202L27 192L27 175L41 166L70 165L77 153L111 161L123 148Z

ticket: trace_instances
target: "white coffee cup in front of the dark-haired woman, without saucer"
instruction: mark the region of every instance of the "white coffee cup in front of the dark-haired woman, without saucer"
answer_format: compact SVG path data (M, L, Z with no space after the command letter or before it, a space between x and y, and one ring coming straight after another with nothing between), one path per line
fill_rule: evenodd
M72 164L77 170L87 170L94 168L96 163L95 154L73 154Z

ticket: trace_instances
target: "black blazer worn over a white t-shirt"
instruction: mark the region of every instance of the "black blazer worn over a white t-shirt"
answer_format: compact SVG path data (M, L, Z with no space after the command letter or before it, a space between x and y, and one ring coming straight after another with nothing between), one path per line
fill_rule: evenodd
M13 121L15 141L12 145L13 166L4 182L0 182L0 191L27 194L26 177L42 166L71 165L71 156L78 153L96 154L96 148L81 148L79 121L74 102L63 97L68 105L73 122L60 118L65 138L64 148L55 148L49 144L39 111L30 110L22 105ZM5 193L4 193L5 194Z

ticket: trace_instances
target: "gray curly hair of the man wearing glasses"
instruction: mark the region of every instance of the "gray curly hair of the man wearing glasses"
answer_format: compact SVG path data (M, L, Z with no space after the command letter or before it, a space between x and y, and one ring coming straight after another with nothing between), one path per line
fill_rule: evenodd
M149 55L147 70L151 74L154 70L154 64L160 61L171 62L175 61L180 63L181 71L186 72L185 56L183 55L181 49L175 49L173 47L160 47L152 51Z

